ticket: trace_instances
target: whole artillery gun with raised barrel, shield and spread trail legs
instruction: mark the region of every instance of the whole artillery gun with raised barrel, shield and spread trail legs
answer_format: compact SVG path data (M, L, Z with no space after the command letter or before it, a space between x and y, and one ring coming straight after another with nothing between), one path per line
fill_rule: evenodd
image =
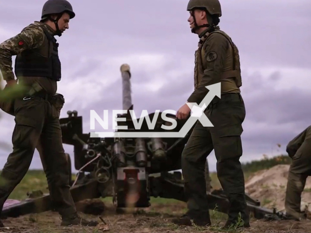
M130 78L128 65L121 66L123 109L126 114L117 117L125 118L118 121L118 126L126 125L127 131L161 132L161 125L172 123L162 118L156 119L155 129L150 130L145 119L140 130L134 128L129 110L133 109L131 102ZM74 166L79 170L77 178L72 181L70 192L75 202L99 197L113 197L117 208L148 207L150 197L162 197L186 201L182 180L181 154L189 138L190 132L183 138L93 138L90 133L83 133L83 117L77 111L68 111L68 117L61 118L63 143L74 147ZM160 116L161 113L158 114ZM177 120L177 126L172 130L178 132L186 120ZM149 118L156 117L155 113ZM121 131L121 130L118 130ZM69 165L71 164L69 154ZM71 174L71 166L69 166ZM31 196L31 195L30 195ZM207 195L210 209L226 213L228 199L223 190L214 190ZM266 215L286 218L275 209L270 210L260 206L258 200L246 195L247 207L255 218ZM215 208L217 206L217 208ZM32 198L3 208L1 217L16 217L28 213L39 213L53 210L49 194L32 195Z

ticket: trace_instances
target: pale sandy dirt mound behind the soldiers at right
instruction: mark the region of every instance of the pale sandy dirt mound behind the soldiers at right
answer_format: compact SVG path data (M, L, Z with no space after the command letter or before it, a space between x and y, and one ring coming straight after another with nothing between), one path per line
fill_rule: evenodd
M275 207L284 211L285 192L289 165L276 165L267 170L254 173L245 183L245 191L267 208ZM301 195L301 210L311 212L311 177L306 181Z

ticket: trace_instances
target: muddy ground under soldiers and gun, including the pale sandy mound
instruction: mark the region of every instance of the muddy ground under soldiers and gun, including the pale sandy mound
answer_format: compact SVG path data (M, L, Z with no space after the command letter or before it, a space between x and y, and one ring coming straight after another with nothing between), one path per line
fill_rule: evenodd
M261 170L251 174L246 179L246 192L254 199L261 202L261 206L277 210L284 210L285 190L288 176L288 165L277 165L267 170ZM30 175L29 175L30 176ZM42 179L39 179L42 176ZM33 189L46 187L44 173L34 173L19 184L19 189L11 195L13 199L24 199L26 190L29 189L36 179L37 186ZM213 187L217 187L213 178ZM45 190L46 191L46 190ZM112 199L99 199L76 203L81 216L86 219L98 220L100 225L91 227L61 227L61 219L55 212L30 214L17 218L4 219L6 228L0 229L0 233L191 233L191 232L225 232L221 226L225 224L226 215L210 211L213 226L203 227L178 227L171 223L175 216L181 216L186 212L186 203L177 200L165 200L152 198L151 207L133 210L128 213L116 213ZM91 208L84 208L84 207ZM307 179L305 190L302 194L301 210L311 211L311 177ZM93 215L90 215L90 210ZM99 218L102 216L104 222ZM228 232L228 231L227 231ZM251 228L244 231L232 230L229 232L243 233L311 233L311 221L264 221L251 219Z

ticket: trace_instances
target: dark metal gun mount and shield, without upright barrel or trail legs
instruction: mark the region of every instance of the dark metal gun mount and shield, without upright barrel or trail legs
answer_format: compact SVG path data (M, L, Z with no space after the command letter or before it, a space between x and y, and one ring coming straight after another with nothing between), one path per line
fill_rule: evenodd
M63 142L74 147L75 168L79 170L74 184L84 183L85 172L89 172L89 176L98 182L100 196L112 196L120 208L129 204L130 194L135 199L136 207L150 206L150 196L161 196L163 192L172 196L169 193L174 193L173 187L163 190L156 175L162 173L163 177L168 171L181 169L181 153L189 134L183 138L92 138L90 133L82 133L82 116L77 116L76 111L69 111L68 114L68 118L60 121ZM175 119L174 115L166 116ZM129 113L117 117L126 119L118 121L118 126L126 125L128 131L135 131ZM156 116L152 113L149 117L153 121ZM146 120L141 120L140 131L143 132L164 131L162 124L172 124L158 117L155 129L150 130ZM178 132L185 122L177 120L174 131ZM173 174L181 179L180 172ZM176 198L182 200L183 190L178 192L180 197Z

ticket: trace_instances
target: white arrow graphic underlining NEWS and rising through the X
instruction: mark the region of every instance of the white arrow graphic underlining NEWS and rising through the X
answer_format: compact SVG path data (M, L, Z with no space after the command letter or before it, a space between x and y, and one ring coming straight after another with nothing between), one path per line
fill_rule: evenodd
M213 127L213 124L203 112L215 96L221 98L221 83L208 85L206 88L209 92L199 105L197 103L187 103L193 113L179 132L90 132L90 137L185 137L197 120L205 127Z

